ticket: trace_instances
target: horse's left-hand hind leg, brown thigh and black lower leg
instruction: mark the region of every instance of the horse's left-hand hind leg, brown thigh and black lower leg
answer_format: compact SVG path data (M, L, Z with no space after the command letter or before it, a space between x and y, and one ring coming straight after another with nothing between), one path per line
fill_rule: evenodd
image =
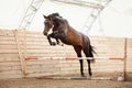
M81 47L79 47L79 46L74 46L74 50L75 50L75 52L77 53L77 56L78 57L81 57ZM85 74L84 74L84 61L82 59L79 59L79 63L80 63L80 74L81 74L81 76L85 76Z

